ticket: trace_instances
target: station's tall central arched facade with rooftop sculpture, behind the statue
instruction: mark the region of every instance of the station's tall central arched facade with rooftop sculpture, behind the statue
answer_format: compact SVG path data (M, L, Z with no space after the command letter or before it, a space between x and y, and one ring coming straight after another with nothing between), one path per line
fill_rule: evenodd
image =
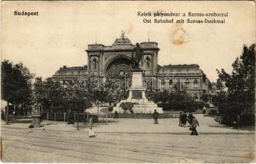
M156 76L158 51L156 42L140 43L143 49L141 68L146 76ZM103 44L90 44L86 50L88 56L88 75L105 77L106 75L117 75L118 71L128 71L135 45L121 36L116 39L112 46ZM111 65L111 66L110 66ZM115 70L116 69L116 70Z

